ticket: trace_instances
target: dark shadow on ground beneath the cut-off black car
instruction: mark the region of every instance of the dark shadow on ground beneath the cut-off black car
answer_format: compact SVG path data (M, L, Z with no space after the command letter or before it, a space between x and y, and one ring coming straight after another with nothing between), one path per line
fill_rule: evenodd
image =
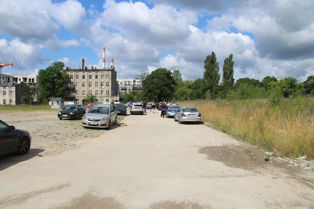
M45 151L45 149L30 149L28 153L25 155L10 154L10 155L1 157L0 158L0 171L9 168L12 165L29 160L35 156L42 157L43 155L40 155L40 153L43 151Z

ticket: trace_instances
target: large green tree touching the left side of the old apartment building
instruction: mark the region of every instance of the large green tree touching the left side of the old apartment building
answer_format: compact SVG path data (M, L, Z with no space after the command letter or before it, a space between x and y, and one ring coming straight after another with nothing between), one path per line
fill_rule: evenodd
M69 75L63 68L63 62L54 62L46 70L38 71L38 82L44 100L47 101L49 97L64 96L65 83L68 81Z

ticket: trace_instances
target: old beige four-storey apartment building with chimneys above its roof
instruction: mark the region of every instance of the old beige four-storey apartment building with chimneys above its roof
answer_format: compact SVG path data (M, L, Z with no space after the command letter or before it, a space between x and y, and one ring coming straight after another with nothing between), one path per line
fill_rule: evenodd
M93 66L85 67L82 59L82 69L66 68L69 81L66 83L64 97L75 104L84 104L86 95L95 95L100 103L119 101L117 92L116 71L111 58L111 67L105 69L105 48L103 48L103 69Z

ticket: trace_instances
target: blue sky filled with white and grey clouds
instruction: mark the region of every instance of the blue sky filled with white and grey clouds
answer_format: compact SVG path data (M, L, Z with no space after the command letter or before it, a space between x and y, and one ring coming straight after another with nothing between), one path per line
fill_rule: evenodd
M37 74L52 62L106 68L135 78L139 68L179 69L203 78L212 51L222 76L262 80L314 75L314 1L300 0L1 0L0 62L10 75Z

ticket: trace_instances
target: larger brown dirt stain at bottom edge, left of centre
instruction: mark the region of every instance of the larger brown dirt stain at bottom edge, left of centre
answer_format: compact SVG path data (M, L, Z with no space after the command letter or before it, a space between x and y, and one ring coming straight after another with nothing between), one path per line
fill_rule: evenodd
M56 208L56 207L54 207ZM84 194L81 197L74 198L64 206L57 207L57 209L122 209L124 205L116 201L112 197L101 198L90 193Z

